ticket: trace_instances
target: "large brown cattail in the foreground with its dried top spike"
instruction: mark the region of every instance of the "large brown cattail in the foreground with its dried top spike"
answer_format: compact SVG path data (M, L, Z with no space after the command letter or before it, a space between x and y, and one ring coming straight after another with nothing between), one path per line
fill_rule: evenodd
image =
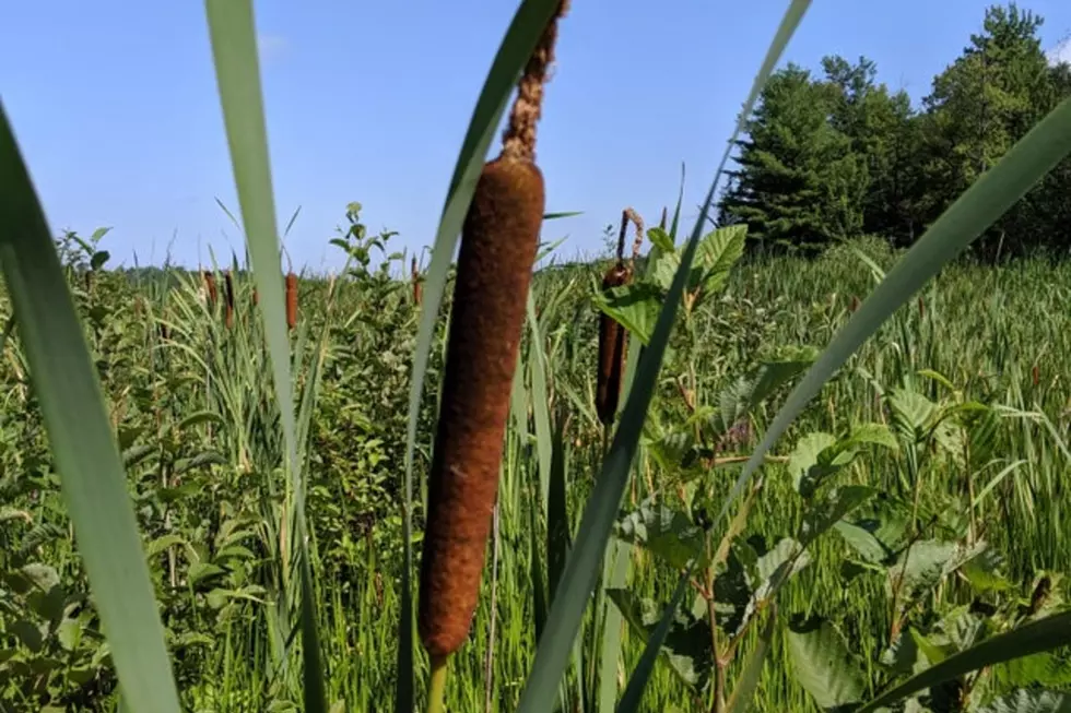
M543 219L536 122L555 36L556 19L525 68L502 153L484 165L461 231L421 556L417 625L433 662L433 690L447 657L469 634L480 594Z

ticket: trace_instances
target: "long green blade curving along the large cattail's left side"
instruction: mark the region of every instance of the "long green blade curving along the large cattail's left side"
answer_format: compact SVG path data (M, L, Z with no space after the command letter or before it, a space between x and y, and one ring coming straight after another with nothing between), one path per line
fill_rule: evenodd
M469 120L461 151L458 154L454 176L447 191L443 215L435 233L432 261L424 283L424 305L416 331L416 346L413 350L413 372L409 384L409 428L405 435L405 478L402 502L402 543L404 569L402 571L402 615L398 631L398 685L396 689L396 710L411 713L413 710L413 602L412 602L412 500L413 500L413 452L416 448L416 423L420 414L421 395L424 391L424 375L427 358L435 335L435 320L443 302L446 277L449 272L454 250L460 237L464 214L472 201L480 170L483 168L487 148L513 93L517 78L558 7L558 0L525 0L514 14L514 20L503 37L487 79L480 91L475 109Z

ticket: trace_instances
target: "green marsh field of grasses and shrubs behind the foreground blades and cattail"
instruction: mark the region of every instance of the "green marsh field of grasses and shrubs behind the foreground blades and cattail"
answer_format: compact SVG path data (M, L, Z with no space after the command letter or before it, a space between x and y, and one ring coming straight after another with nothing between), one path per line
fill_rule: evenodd
M895 259L871 241L811 261L745 260L723 290L678 325L625 496L621 539L612 540L617 559L588 608L563 687L566 710L581 710L580 701L584 710L608 710L596 705L600 697L624 688L643 652L640 629L652 626L673 592L681 552L702 542L704 523L739 473L739 456L750 454L800 368L744 418L714 431L710 424L740 394L741 377L764 363L805 364L807 349L821 349L843 326L855 298L875 282L856 250L871 257L873 269ZM328 701L344 705L337 710L387 710L395 696L401 464L419 319L403 260L390 274L358 265L303 280L291 331L316 614ZM496 535L470 640L454 658L447 710L514 710L531 667L550 595L544 582L561 571L567 546L553 523L575 526L605 449L593 403L592 304L604 270L605 263L552 266L536 277ZM299 646L286 610L294 578L281 551L290 542L282 513L295 494L278 470L284 444L251 284L235 272L228 326L222 270L214 302L197 274L90 274L69 271L184 704L299 710ZM709 582L696 581L696 607L678 616L643 710L715 710L711 691L732 690L746 656L765 640L763 617L776 617L776 626L753 710L807 711L822 703L802 672L807 632L843 635L858 681L841 684L873 693L903 672L898 665L918 665L918 652L910 661L896 654L908 629L932 664L977 640L979 630L1000 631L1062 606L1058 573L1071 567L1071 530L1057 507L1071 472L1069 305L1071 266L1033 260L948 268L899 310L767 459L762 490L742 501L746 511L734 521L744 526L731 555L711 568L719 633L711 641L703 618ZM2 313L10 314L5 304ZM419 428L417 496L444 326ZM115 677L107 644L84 599L86 579L11 323L2 349L0 710L109 710ZM785 545L782 537L807 539L808 498L857 486L873 489L851 491L866 499L860 509L837 518L805 556L785 556L785 546L799 543ZM422 512L417 506L417 531ZM901 531L888 534L896 522ZM666 533L672 544L660 537ZM723 533L723 526L714 533L715 544ZM887 557L868 559L860 533L887 545ZM915 571L910 552L930 559ZM792 575L764 598L761 584L785 575L777 566L786 561ZM742 604L732 589L738 580L750 590ZM809 628L797 615L823 617L825 628ZM711 646L720 646L717 657ZM1014 688L1071 684L1071 664L1060 654L1024 661L931 690L919 699L925 708L914 710L967 710Z

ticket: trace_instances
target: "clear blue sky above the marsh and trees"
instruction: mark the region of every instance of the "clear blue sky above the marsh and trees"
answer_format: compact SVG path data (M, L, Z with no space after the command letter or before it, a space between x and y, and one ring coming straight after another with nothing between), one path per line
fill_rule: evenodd
M815 0L782 61L875 60L925 95L980 28L979 0ZM1071 2L1031 0L1047 49ZM538 157L563 257L595 253L632 205L655 223L686 165L685 216L705 192L785 2L574 0L561 31ZM514 2L256 3L281 224L295 265L340 263L328 245L349 201L393 245L431 243L457 150ZM105 238L115 262L208 262L240 252L215 203L237 212L203 14L193 1L11 2L0 97L55 233ZM497 148L493 148L496 151Z

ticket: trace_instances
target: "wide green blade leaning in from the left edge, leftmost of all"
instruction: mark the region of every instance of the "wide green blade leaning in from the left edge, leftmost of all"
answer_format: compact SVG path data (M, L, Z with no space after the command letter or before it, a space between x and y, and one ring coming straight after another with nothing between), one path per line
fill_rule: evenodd
M101 383L2 105L0 183L0 263L122 698L139 713L178 713L164 629Z

